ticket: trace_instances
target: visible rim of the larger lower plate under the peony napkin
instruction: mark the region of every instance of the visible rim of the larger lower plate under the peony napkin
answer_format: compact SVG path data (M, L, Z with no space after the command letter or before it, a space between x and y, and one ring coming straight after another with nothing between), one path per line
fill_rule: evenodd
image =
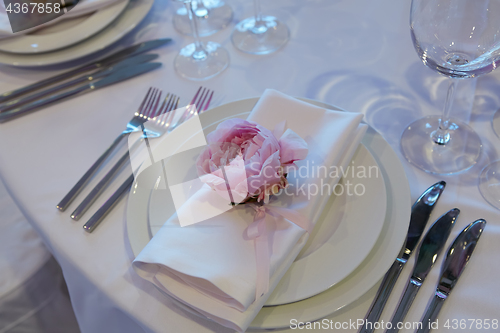
M252 98L229 103L214 108L204 115L209 115L218 110L228 117L239 116L245 118L257 101L258 98ZM335 107L320 102L307 101L320 107L338 110ZM219 118L218 120L222 121L223 119ZM385 214L379 237L372 237L375 246L371 248L371 251L368 250L369 254L364 260L361 259L361 263L356 266L357 268L354 267L354 271L341 279L333 287L300 302L264 307L255 318L251 327L279 328L289 326L290 318L296 318L301 321L323 318L366 293L380 280L396 258L403 245L410 215L410 191L408 183L401 181L401 179L406 179L406 175L397 155L387 142L373 129L368 130L362 143L373 156L368 155L372 156L379 166L380 173L382 174L381 178L387 189L387 193L384 195L384 198L387 198L387 214ZM358 150L357 153L360 153L362 149ZM154 184L157 177L151 178ZM151 230L149 230L145 221L147 221L148 215L148 199L146 197L149 197L152 193L153 184L145 187L134 187L129 196L127 206L127 234L135 255L144 248L152 237ZM363 209L358 210L363 211ZM354 243L360 244L356 240L354 240ZM345 254L346 251L342 253ZM297 262L302 260L298 260Z

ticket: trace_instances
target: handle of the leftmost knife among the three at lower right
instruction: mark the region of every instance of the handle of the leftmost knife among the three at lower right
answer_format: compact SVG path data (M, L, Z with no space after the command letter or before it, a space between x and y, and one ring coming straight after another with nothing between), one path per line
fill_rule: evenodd
M358 333L372 333L375 330L375 323L379 320L382 310L389 299L392 288L396 284L396 280L403 270L406 260L397 258L392 264L391 268L387 271L382 280L382 284L378 288L377 295L366 314L364 325Z

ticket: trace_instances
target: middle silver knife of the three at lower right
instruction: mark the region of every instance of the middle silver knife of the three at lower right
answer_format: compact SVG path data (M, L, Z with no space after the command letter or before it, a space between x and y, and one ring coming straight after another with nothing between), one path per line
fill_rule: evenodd
M413 300L417 296L420 286L431 271L439 254L443 250L451 229L455 225L460 210L454 208L441 216L427 231L424 240L418 249L417 263L413 273L406 284L405 291L399 301L396 311L392 316L390 324L387 323L386 333L399 332L398 324L403 321L410 309Z

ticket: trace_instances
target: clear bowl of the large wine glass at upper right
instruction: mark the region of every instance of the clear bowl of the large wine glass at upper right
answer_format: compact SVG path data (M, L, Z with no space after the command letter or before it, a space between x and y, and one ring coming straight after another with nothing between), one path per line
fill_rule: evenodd
M413 45L429 68L470 78L496 68L500 57L500 2L418 0L410 18Z

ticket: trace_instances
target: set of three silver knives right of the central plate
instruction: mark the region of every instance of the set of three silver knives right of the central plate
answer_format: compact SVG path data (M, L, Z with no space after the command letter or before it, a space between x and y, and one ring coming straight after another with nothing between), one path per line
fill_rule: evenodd
M375 299L366 314L364 325L358 333L371 333L377 328L378 320L389 299L391 291L404 265L417 246L429 217L437 201L441 197L445 186L446 183L444 181L432 185L413 205L405 245L403 245L394 264L382 280ZM406 317L420 287L434 266L439 254L442 252L459 214L459 209L451 209L441 216L427 231L418 248L417 260L412 275L408 279L405 291L401 296L390 322L387 323L386 333L395 333L399 331L398 323L401 323ZM486 221L483 219L472 222L457 236L450 246L447 257L443 262L442 275L436 293L420 321L421 326L416 332L429 332L431 330L432 322L436 319L444 300L455 286L465 265L468 263L485 225Z

